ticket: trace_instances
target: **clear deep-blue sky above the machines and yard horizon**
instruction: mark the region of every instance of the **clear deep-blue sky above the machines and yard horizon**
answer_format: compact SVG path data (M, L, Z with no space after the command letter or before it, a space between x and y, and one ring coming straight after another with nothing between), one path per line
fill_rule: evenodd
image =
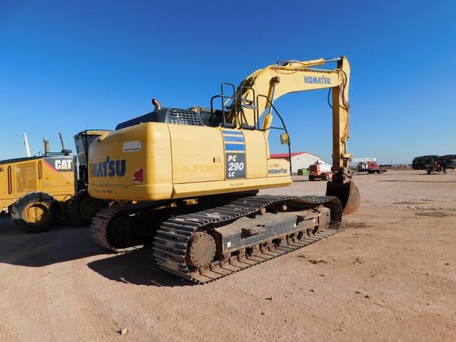
M247 3L248 4L245 4ZM86 128L113 129L168 107L209 105L279 59L351 61L354 157L397 163L456 154L456 1L0 0L0 159L42 138L73 147ZM293 150L331 160L326 90L276 105ZM282 152L271 136L271 151Z

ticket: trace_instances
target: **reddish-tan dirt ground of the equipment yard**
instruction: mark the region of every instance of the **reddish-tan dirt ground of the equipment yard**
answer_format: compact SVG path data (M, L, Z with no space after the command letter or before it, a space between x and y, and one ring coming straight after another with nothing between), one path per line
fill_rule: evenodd
M264 193L323 195L296 179ZM2 218L0 341L455 341L456 171L355 182L340 234L206 285L87 228L26 235Z

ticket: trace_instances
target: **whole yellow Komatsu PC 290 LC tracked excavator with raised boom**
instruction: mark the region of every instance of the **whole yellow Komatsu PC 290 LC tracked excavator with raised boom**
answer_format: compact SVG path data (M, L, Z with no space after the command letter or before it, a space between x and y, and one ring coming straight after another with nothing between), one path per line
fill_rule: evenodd
M336 68L321 66L336 63ZM88 191L115 200L92 220L95 242L116 252L152 247L165 271L195 283L227 276L336 233L361 197L347 151L350 64L345 56L279 61L239 87L222 83L210 108L162 108L120 123L90 144ZM291 184L268 136L290 138L274 100L329 89L333 179L326 196L257 195ZM328 93L329 98L329 93ZM281 125L272 125L274 116Z

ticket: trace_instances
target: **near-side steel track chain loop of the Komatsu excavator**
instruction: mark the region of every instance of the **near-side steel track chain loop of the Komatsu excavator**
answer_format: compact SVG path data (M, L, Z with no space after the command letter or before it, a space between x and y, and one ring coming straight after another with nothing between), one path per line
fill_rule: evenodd
M250 257L247 255L237 260L230 258L229 262L212 263L209 269L203 271L190 271L185 262L187 253L187 244L190 242L192 234L197 230L204 230L204 226L214 223L232 221L240 217L259 212L261 209L278 202L293 200L300 204L309 204L309 206L325 205L331 210L331 223L324 232L303 239L294 239L294 241L267 252L254 254ZM274 259L281 255L292 252L296 249L306 247L309 244L318 242L326 237L336 234L341 225L342 208L337 197L332 196L252 196L236 199L229 204L222 205L212 209L202 210L192 214L176 215L162 223L155 235L153 255L155 261L167 272L180 276L196 284L204 284L209 281L222 278L229 274L236 273L242 269Z

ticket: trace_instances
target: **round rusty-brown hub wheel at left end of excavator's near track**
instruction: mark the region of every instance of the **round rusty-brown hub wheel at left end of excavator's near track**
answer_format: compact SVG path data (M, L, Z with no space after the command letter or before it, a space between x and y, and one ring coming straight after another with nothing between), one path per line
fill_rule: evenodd
M204 268L214 260L215 251L214 238L206 232L196 232L188 244L185 261L192 267Z

